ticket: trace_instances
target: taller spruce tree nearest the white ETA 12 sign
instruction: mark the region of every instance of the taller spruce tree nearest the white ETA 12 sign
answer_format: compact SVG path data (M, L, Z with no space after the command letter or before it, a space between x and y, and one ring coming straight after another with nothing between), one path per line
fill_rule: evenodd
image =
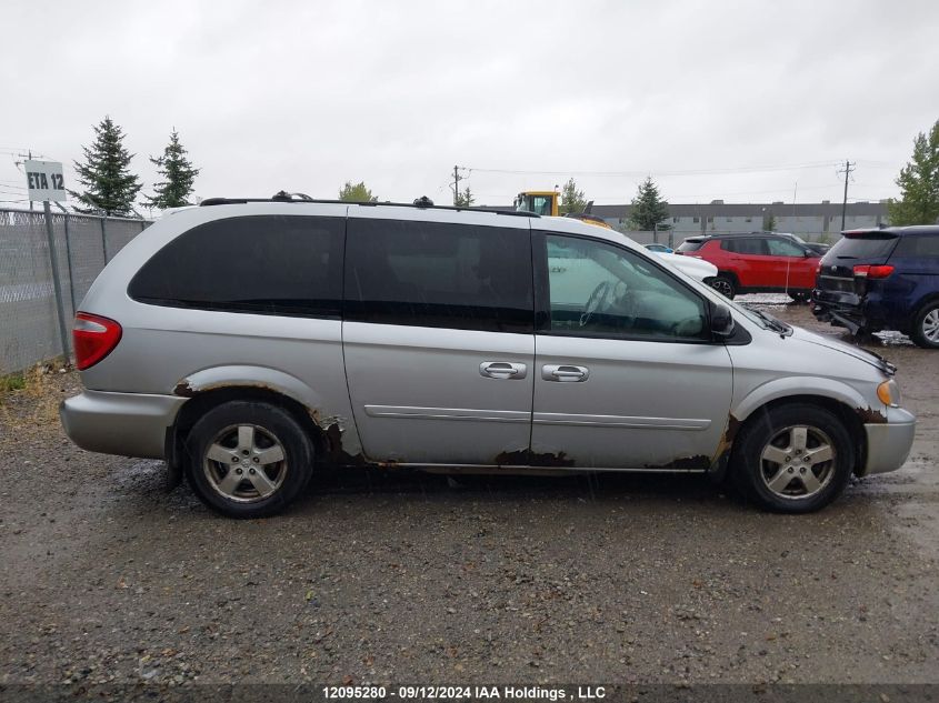
M84 191L70 190L83 208L79 212L104 215L131 215L133 200L140 190L140 179L128 168L133 154L123 147L123 131L109 116L94 128L94 143L82 147L84 163L74 162L79 182Z

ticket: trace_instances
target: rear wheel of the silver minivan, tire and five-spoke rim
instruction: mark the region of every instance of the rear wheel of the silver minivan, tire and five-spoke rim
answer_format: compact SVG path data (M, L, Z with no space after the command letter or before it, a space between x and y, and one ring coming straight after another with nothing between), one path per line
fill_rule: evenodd
M248 436L256 449L242 449L242 438L247 440ZM237 458L239 463L214 461L208 456L210 449L213 453L230 452L231 461ZM267 458L276 459L278 454L272 450L277 449L281 460L256 462L258 458L264 459L264 452ZM257 401L231 401L209 410L189 432L186 478L199 499L212 510L230 518L264 518L282 511L307 488L313 455L311 438L287 410ZM230 495L224 491L229 471L243 475L239 480L231 474L231 480L239 483ZM254 488L261 483L261 489Z

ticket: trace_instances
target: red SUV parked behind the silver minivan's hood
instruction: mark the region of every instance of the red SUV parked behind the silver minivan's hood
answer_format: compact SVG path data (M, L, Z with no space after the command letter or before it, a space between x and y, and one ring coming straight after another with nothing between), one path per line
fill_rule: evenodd
M728 298L779 292L798 301L811 297L821 260L795 237L773 233L691 237L676 253L715 264L718 275L709 283Z

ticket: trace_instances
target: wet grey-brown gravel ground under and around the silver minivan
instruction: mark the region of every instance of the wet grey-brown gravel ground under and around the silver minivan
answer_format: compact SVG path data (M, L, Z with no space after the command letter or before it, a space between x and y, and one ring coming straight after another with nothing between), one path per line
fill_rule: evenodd
M912 454L807 516L695 476L346 472L224 520L72 446L47 375L0 405L0 683L939 682L939 353L872 345Z

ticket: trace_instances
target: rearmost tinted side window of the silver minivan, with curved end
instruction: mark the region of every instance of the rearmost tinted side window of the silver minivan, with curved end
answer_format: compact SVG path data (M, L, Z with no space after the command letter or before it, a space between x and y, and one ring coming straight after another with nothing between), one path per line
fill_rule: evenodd
M342 218L207 222L153 254L128 294L157 305L338 318L343 230Z

